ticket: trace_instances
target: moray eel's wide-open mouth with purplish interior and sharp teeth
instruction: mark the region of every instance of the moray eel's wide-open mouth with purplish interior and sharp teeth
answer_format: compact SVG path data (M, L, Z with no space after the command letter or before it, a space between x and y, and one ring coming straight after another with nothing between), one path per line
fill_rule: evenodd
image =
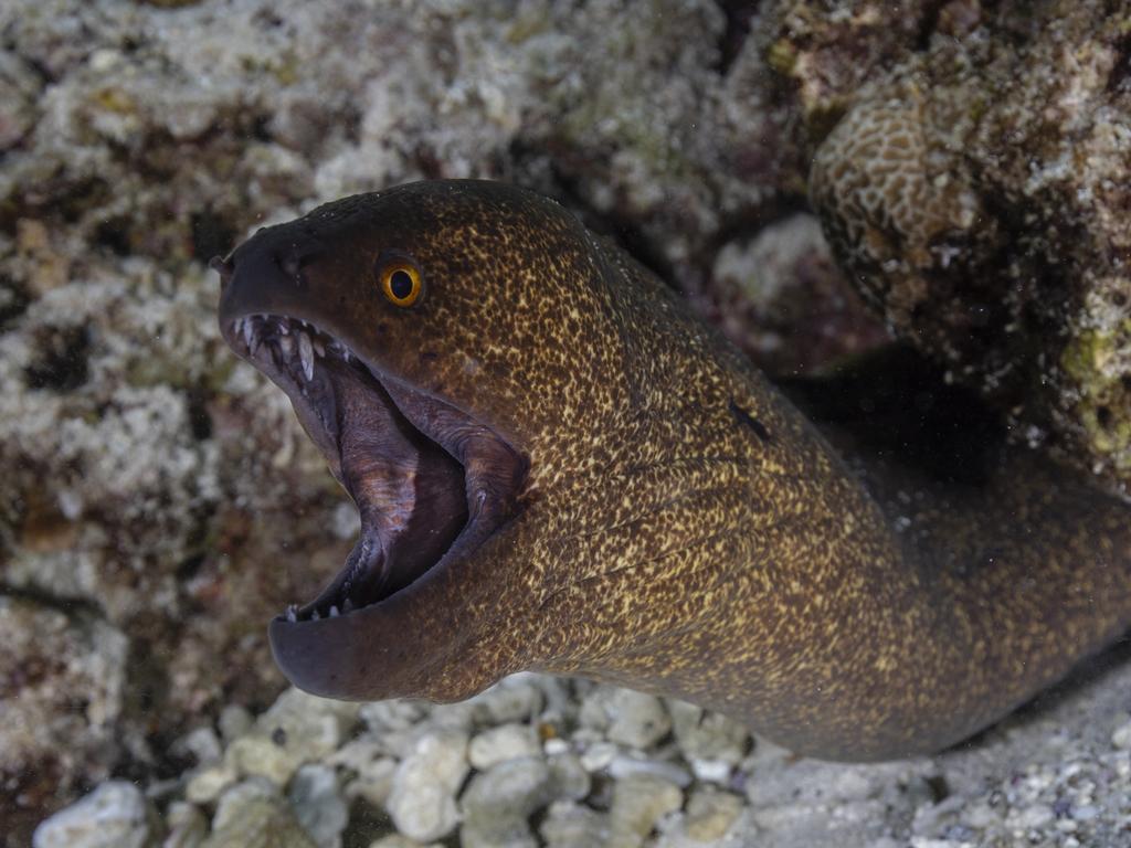
M361 517L338 576L279 622L379 604L470 553L515 513L526 462L489 426L382 375L308 321L252 314L225 322L224 336L287 393Z

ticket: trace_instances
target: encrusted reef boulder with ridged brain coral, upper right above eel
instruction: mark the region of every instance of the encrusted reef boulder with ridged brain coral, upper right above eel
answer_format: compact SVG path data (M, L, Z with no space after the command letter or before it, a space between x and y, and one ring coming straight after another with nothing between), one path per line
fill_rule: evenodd
M1125 15L947 8L960 35L936 33L862 87L823 140L814 206L898 335L984 390L1021 438L1126 487ZM1003 40L1019 46L995 50Z

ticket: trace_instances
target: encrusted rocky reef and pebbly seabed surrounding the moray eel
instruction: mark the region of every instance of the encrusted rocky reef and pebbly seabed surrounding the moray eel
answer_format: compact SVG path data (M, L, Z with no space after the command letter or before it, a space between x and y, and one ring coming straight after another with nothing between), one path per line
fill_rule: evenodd
M509 180L769 372L898 335L1125 491L1129 171L1111 0L6 2L7 845L84 795L40 845L1128 845L1125 665L851 768L584 682L280 695L265 622L356 518L205 262L342 194Z

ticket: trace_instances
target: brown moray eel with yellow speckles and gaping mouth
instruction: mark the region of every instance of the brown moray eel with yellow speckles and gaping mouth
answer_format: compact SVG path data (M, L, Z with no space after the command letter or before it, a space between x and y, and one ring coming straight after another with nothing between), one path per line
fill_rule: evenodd
M866 415L822 433L535 193L361 194L214 267L224 338L361 513L340 574L270 623L309 692L582 675L879 760L970 736L1131 620L1125 502L1028 451L932 473Z

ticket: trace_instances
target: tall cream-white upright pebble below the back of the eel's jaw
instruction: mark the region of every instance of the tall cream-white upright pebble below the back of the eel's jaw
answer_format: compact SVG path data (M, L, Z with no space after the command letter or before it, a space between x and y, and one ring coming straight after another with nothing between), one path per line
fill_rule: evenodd
M467 734L435 730L417 739L392 776L387 808L405 836L428 842L459 822L456 791L468 771Z

